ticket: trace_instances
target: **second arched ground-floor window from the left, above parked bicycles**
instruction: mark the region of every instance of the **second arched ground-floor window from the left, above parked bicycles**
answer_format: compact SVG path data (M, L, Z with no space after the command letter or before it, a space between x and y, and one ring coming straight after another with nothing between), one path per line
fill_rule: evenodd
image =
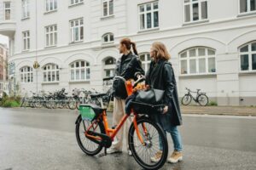
M44 82L59 82L60 69L58 65L47 64L43 67Z

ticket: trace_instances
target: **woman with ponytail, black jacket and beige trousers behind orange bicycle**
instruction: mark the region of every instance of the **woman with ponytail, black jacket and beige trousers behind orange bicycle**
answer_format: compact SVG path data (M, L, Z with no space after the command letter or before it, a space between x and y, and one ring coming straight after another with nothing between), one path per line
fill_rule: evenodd
M131 48L133 53L131 52ZM123 77L125 80L137 80L138 77L144 75L142 63L137 56L135 42L131 42L129 38L123 38L119 43L119 53L123 55L116 63L115 76ZM125 83L122 80L116 80L113 82L113 97L113 126L116 126L125 115L125 99L127 98L127 93L125 90ZM131 150L129 150L128 145L128 131L130 125L131 118L128 118L124 127L126 149L129 155L131 155ZM112 147L107 150L109 154L122 151L124 127L120 129Z

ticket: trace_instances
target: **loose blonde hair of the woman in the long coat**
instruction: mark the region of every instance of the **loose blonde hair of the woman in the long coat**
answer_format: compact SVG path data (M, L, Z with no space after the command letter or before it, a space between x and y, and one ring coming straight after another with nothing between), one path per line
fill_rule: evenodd
M156 59L171 59L171 55L168 53L166 45L162 42L154 42L152 44L152 49L155 52Z

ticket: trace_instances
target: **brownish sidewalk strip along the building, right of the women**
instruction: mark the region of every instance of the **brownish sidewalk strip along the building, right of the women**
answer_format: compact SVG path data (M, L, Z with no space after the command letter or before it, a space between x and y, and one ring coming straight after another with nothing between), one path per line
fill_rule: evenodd
M249 106L184 106L182 114L256 116L256 107Z

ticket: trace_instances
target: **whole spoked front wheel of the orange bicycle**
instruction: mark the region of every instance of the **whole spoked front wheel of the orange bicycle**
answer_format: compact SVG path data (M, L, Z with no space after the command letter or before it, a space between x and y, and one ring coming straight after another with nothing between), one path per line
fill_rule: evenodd
M134 159L145 169L159 169L166 163L168 156L168 144L163 129L147 117L138 118L137 127L143 139L143 144L137 137L137 131L133 123L128 136L129 147ZM162 150L160 150L160 144ZM153 160L154 156L160 151L160 159Z

